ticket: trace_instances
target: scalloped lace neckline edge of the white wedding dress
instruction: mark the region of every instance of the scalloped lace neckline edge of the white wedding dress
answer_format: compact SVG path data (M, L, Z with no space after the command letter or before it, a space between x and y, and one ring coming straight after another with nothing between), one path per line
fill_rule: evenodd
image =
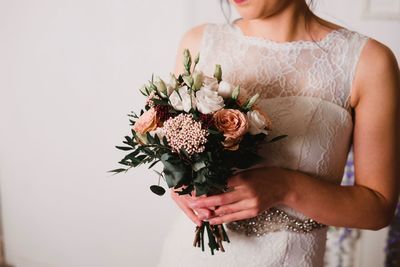
M330 31L328 34L326 34L321 40L318 41L310 41L310 40L295 40L295 41L288 41L288 42L277 42L271 39L267 39L264 37L259 37L259 36L251 36L251 35L245 35L242 31L242 29L235 24L235 22L232 22L229 24L229 28L233 31L233 33L240 39L255 43L258 45L266 45L266 46L271 46L271 47L282 47L282 48L290 48L290 47L308 47L308 48L317 48L317 47L325 47L328 45L332 39L334 39L335 36L342 34L344 31L346 31L346 28L337 28L332 31Z

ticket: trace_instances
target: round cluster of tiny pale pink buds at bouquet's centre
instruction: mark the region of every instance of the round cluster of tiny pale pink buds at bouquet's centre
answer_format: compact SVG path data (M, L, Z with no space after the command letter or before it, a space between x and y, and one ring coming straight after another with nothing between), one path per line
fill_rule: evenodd
M186 150L189 155L204 151L208 132L202 129L201 122L195 121L192 114L179 114L164 122L165 137L174 152Z

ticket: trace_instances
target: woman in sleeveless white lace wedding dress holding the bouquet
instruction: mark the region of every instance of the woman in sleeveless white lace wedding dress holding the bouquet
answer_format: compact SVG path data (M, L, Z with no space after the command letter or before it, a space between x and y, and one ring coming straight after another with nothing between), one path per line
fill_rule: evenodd
M171 196L182 209L159 266L323 266L327 225L377 230L398 199L399 70L382 43L325 21L305 0L231 0L241 19L189 30L178 51L198 69L259 93L273 135L262 167L230 177L230 192ZM355 184L340 186L350 146ZM188 220L188 218L191 220ZM191 246L193 223L226 224L226 252Z

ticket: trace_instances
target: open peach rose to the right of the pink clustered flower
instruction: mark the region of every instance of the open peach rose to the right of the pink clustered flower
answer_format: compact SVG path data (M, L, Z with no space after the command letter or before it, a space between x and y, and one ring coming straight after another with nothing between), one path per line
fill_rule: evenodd
M214 124L221 131L225 140L223 145L228 150L236 150L249 124L246 115L236 109L220 109L214 113Z

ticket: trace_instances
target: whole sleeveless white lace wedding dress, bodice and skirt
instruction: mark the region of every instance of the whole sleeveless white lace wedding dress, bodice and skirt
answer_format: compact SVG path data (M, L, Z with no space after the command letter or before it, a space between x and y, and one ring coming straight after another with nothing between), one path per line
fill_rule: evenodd
M277 43L245 36L235 25L207 24L198 69L212 76L221 64L224 80L250 95L260 93L258 105L273 121L272 135L288 135L263 148L266 166L340 184L353 130L349 96L367 40L340 28L317 42ZM192 246L195 225L182 212L159 266L323 266L327 228L312 227L319 224L289 207L276 208L227 224L231 243L214 256Z

